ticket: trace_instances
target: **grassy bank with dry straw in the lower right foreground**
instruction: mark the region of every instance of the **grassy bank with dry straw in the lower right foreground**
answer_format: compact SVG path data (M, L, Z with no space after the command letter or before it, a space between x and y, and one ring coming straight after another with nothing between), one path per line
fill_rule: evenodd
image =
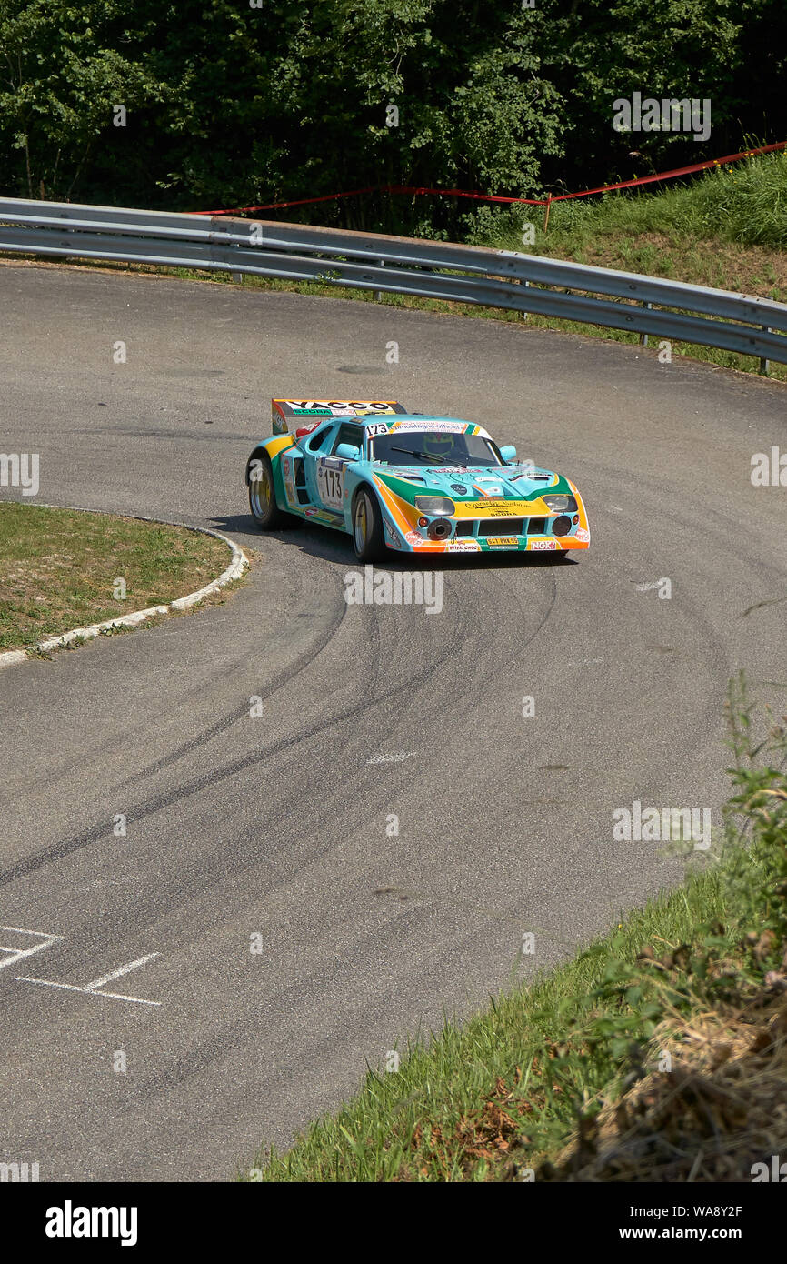
M740 678L729 707L734 793L683 886L369 1071L241 1179L750 1181L783 1152L787 732L754 737Z

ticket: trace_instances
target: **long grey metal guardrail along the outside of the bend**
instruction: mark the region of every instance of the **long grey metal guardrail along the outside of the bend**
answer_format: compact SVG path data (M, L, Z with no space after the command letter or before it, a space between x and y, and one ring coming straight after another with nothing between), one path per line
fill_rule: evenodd
M763 372L787 364L786 303L512 250L21 198L0 198L0 250L480 303L754 355Z

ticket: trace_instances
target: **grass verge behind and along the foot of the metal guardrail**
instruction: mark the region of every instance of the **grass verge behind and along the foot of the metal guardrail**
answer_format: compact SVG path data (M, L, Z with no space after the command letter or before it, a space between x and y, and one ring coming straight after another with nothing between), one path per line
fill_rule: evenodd
M533 228L533 241L529 236L523 240L526 224ZM556 202L550 209L546 230L542 207L495 210L484 206L467 216L466 240L475 245L574 259L577 263L640 272L787 302L787 155L769 154L747 159L656 193L629 190L587 201L579 198ZM321 295L357 302L375 301L370 291L315 282L251 276L239 282L231 273L154 268L147 264L100 267L211 281L216 284L243 284L249 289ZM380 302L390 307L435 313L523 322L519 312L471 303L411 298L404 295L383 295ZM532 329L605 337L633 346L639 343L637 334L555 317L529 315L527 324ZM651 339L651 345L656 348L657 340ZM649 354L656 354L656 350ZM672 354L720 368L759 372L757 359L715 348L673 341ZM772 363L771 377L787 382L787 365Z

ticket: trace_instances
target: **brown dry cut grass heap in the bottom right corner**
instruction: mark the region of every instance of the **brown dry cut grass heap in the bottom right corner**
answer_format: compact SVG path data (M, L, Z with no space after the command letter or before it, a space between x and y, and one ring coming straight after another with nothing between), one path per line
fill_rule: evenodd
M671 1069L584 1117L537 1178L750 1182L757 1163L769 1170L771 1155L787 1153L787 977L768 977L742 1007L666 1020L656 1045Z

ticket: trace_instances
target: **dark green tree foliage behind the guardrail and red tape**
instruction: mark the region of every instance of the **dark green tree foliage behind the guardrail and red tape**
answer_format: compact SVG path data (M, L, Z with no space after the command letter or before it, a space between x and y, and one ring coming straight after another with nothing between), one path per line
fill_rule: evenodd
M0 0L0 188L182 210L581 188L783 139L786 34L783 0ZM710 99L709 142L616 133L634 91ZM424 207L442 234L467 210L284 214L412 231Z

